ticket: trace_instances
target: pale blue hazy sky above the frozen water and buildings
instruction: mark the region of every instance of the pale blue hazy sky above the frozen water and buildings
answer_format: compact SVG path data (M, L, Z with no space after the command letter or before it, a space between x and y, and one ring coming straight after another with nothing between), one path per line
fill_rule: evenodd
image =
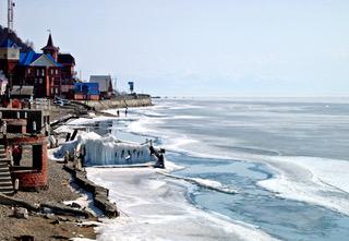
M7 0L0 0L5 25ZM83 76L168 96L349 96L348 0L16 0Z

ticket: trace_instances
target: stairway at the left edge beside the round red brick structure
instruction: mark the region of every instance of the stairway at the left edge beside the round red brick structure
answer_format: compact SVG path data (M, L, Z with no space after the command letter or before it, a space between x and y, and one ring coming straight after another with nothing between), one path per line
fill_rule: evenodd
M13 184L4 146L0 145L0 193L12 195Z

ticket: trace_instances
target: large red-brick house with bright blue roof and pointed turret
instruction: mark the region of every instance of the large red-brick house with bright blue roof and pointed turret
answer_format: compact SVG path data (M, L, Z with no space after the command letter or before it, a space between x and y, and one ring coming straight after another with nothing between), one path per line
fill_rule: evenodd
M75 59L70 53L60 53L51 34L43 53L21 52L10 39L0 46L0 70L9 80L9 87L34 86L37 98L73 98Z

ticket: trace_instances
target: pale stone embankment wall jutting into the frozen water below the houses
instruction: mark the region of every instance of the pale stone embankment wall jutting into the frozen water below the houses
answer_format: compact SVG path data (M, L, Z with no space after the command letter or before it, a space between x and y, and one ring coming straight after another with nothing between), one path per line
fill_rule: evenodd
M117 109L117 108L129 108L129 107L144 107L153 106L152 97L149 95L129 95L129 96L117 96L112 99L104 100L79 100L86 106L99 111L105 109Z

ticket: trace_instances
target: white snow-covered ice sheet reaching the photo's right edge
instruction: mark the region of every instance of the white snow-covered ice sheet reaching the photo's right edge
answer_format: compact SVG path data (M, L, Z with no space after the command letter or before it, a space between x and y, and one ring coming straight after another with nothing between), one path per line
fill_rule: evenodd
M317 157L265 158L278 174L257 184L277 195L349 215L349 161Z

